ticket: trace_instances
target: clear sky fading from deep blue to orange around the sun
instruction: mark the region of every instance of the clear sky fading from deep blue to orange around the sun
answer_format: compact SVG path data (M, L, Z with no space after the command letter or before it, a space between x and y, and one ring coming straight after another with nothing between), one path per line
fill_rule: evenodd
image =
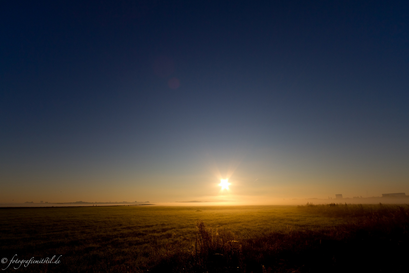
M6 1L0 35L0 203L409 194L407 1Z

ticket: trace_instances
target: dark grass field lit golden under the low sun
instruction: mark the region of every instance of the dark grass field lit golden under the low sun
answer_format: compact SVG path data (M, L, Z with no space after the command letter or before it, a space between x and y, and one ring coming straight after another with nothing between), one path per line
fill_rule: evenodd
M408 209L2 208L0 259L62 255L12 272L409 272Z

